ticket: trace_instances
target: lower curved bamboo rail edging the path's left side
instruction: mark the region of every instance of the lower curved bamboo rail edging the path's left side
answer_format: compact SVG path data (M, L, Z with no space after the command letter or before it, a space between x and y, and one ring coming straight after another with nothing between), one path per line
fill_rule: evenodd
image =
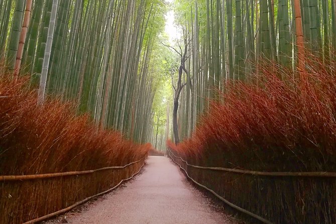
M139 161L142 161L142 160L139 160ZM139 162L139 161L137 161L137 162ZM137 163L137 162L134 162L134 163ZM134 163L132 163L132 164L134 164ZM128 164L128 165L132 165L132 164ZM103 191L103 192L101 192L101 193L99 193L99 194L95 194L95 195L93 195L93 196L87 197L87 198L85 198L84 200L78 201L78 202L74 203L73 205L71 205L71 206L69 206L69 207L66 207L66 208L63 208L63 209L61 209L61 210L59 210L59 211L55 211L55 212L53 212L53 213L44 215L44 216L42 216L42 217L35 218L35 219L30 220L30 221L27 221L27 222L25 222L25 223L23 223L23 224L32 224L32 223L36 223L36 222L41 222L41 221L47 220L47 219L52 218L52 217L54 217L54 216L56 216L56 215L60 215L60 214L63 214L63 213L65 213L65 212L67 212L67 211L70 211L70 210L73 209L74 207L76 207L76 206L78 206L78 205L81 205L81 204L83 204L83 203L89 201L90 199L92 199L92 198L94 198L94 197L98 197L98 196L101 196L101 195L103 195L103 194L106 194L106 193L108 193L108 192L110 192L110 191L116 189L117 187L119 187L124 181L131 180L135 175L137 175L137 174L141 171L141 169L144 167L144 165L145 165L145 163L140 167L140 169L139 169L138 172L136 172L135 174L133 174L133 175L132 175L130 178L128 178L128 179L123 179L123 180L121 180L121 181L119 182L119 184L117 184L117 185L114 186L113 188L110 188L110 189L108 189L108 190L106 190L106 191ZM125 166L125 167L126 167L126 166Z

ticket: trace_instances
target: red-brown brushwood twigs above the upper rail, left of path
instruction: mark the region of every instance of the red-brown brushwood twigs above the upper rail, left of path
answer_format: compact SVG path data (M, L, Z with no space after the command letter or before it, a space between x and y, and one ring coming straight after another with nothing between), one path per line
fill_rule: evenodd
M0 174L41 174L125 165L143 158L150 145L136 145L116 131L97 130L72 102L48 99L36 106L27 80L0 79Z

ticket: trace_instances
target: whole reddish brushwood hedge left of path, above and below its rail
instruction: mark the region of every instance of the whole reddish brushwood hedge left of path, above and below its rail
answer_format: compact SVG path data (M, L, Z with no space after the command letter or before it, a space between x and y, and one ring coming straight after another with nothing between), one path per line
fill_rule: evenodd
M44 174L120 166L140 160L152 148L97 130L72 102L48 99L36 106L27 78L0 78L0 175ZM24 182L3 182L0 223L22 223L116 185L142 163L123 170Z

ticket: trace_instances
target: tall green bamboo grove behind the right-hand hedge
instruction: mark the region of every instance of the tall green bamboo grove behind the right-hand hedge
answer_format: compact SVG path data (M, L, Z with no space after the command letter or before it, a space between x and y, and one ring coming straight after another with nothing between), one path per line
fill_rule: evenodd
M197 116L229 80L253 82L260 62L294 70L298 63L296 22L302 23L305 49L333 59L336 1L193 0L175 1L180 46L187 45L186 71L178 111L179 134L190 137ZM300 12L296 17L295 12ZM300 17L301 20L300 21ZM297 21L295 19L298 19ZM331 46L331 48L330 48ZM282 77L283 79L284 77Z

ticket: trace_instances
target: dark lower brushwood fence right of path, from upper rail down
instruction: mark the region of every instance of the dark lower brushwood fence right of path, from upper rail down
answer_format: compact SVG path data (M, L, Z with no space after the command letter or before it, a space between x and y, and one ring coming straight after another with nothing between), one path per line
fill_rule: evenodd
M336 173L259 172L189 164L169 157L195 184L263 223L336 223ZM257 221L258 221L257 220Z

